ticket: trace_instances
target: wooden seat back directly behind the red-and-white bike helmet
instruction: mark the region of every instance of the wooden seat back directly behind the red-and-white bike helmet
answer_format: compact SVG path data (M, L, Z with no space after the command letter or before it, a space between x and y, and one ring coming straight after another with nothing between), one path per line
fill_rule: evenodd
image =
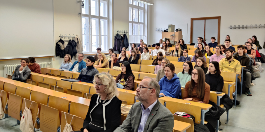
M174 114L177 111L189 113L195 117L195 123L197 124L201 123L201 107L199 106L167 101L166 107L172 114Z

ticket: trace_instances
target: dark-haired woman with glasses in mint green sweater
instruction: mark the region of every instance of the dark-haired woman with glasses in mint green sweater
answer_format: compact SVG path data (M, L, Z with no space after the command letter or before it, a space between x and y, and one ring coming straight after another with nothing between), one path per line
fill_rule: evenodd
M183 71L179 72L177 76L179 77L181 87L185 87L188 81L191 81L191 71L193 70L193 66L191 61L186 61L183 64Z

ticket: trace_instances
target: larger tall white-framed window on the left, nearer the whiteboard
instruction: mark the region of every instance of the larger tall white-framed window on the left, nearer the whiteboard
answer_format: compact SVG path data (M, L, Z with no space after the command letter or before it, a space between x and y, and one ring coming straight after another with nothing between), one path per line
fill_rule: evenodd
M108 51L108 1L85 0L82 8L82 39L83 53Z

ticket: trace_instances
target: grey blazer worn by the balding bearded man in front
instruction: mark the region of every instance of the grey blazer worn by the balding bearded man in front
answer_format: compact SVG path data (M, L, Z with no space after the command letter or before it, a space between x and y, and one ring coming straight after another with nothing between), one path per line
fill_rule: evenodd
M114 132L137 132L141 122L141 102L134 103L127 118ZM159 101L150 112L143 132L172 132L174 127L173 114Z

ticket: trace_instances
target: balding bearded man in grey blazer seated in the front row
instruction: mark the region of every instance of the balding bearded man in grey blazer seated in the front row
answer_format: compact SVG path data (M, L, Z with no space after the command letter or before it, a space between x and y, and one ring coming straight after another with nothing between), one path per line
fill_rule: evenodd
M141 81L136 89L136 99L140 102L132 105L127 118L114 132L172 132L174 117L158 101L159 91L154 79Z

